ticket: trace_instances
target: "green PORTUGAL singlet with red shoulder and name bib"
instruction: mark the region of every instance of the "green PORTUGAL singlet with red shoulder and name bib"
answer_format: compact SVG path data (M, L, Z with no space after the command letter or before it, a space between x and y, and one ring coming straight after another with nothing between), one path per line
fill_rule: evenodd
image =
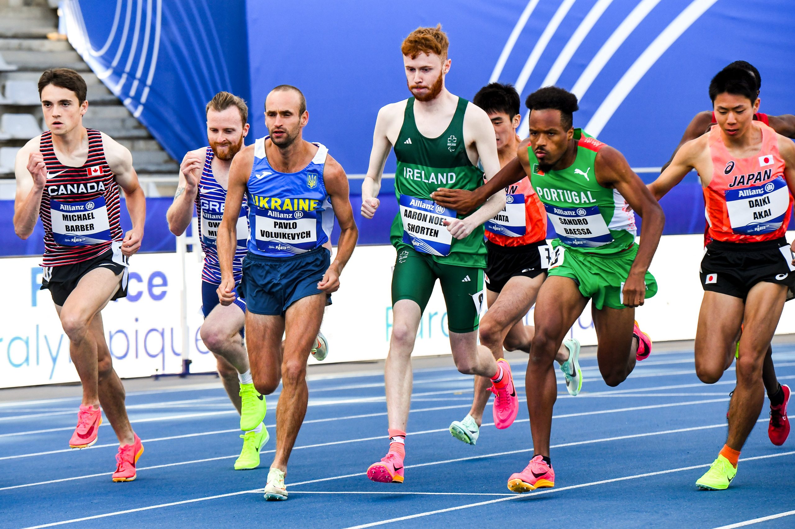
M634 213L619 191L602 187L594 175L596 153L605 144L574 129L577 157L569 167L543 172L528 145L530 183L544 203L557 242L566 249L588 253L617 253L635 241Z

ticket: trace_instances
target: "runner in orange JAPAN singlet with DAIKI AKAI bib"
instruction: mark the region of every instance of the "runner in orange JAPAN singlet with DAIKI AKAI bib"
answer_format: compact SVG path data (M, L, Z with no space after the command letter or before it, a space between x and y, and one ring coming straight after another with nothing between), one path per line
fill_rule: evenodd
M737 387L729 405L729 431L718 458L696 485L727 488L764 400L762 364L795 288L795 264L784 238L793 207L795 145L754 121L759 106L753 75L728 67L715 75L709 95L717 127L688 141L649 185L660 198L692 169L704 186L712 241L701 261L701 303L696 331L696 374L714 384L731 365L739 333Z

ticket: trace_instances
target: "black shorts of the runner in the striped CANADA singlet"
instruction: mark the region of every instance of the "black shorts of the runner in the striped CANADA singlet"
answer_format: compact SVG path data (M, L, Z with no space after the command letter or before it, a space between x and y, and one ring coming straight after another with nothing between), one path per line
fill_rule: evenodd
M109 249L107 252L75 264L62 264L60 266L45 267L44 277L41 280L41 289L49 289L52 301L59 307L63 307L66 299L75 290L77 284L88 272L95 268L107 268L116 276L122 274L119 280L118 290L111 298L125 298L127 296L127 271L130 261L122 255L121 248ZM123 272L123 273L122 273Z

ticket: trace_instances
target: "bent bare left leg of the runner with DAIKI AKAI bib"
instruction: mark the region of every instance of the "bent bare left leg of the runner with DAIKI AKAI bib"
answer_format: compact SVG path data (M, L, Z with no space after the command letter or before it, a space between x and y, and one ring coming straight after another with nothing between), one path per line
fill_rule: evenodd
M732 346L743 322L743 309L743 299L704 292L695 344L696 375L702 382L715 384L731 365L735 353Z

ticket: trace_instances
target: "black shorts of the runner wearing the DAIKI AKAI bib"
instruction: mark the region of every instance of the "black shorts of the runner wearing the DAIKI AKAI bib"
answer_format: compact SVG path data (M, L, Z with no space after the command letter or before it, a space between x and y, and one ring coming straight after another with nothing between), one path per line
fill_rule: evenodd
M701 286L746 299L750 289L762 281L789 288L787 299L795 290L793 254L785 238L762 242L712 241L701 260Z

